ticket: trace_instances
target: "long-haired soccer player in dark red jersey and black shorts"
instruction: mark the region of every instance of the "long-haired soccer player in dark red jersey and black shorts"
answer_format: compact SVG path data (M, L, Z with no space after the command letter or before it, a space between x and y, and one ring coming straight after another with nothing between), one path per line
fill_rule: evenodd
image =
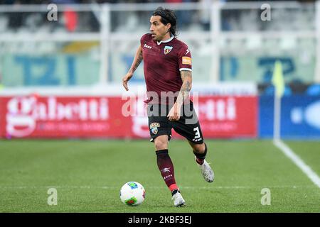
M176 38L174 11L159 7L150 18L150 32L142 35L129 72L122 84L127 91L129 79L144 60L144 78L148 99L148 118L151 142L154 142L157 165L171 191L174 206L184 206L185 200L174 178L174 165L168 153L171 129L188 140L196 164L207 182L214 174L206 162L207 146L189 98L192 84L191 52Z

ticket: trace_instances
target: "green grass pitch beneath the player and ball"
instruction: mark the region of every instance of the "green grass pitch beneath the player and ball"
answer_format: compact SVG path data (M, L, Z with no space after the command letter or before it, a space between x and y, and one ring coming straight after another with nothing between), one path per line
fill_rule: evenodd
M320 175L320 142L284 141ZM320 189L271 140L206 140L215 181L204 181L185 140L169 154L186 206L176 208L148 140L0 140L0 212L320 212ZM140 182L146 199L122 204ZM58 204L47 204L48 189ZM271 204L262 206L263 188Z

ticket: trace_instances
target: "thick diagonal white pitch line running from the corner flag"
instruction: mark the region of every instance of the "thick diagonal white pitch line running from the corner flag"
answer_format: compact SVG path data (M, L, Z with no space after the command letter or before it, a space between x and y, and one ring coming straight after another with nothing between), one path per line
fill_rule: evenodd
M304 172L306 176L309 177L309 179L311 179L311 181L320 188L320 177L316 175L316 173L311 169L311 167L309 167L309 165L306 165L306 163L304 163L304 161L298 155L296 155L285 143L283 143L282 140L275 139L273 140L273 144L277 148L279 148L279 150L281 150L284 155L289 157L289 159L292 160L292 162L294 162L294 164L297 165L297 167L299 167L300 170L302 170L302 172Z

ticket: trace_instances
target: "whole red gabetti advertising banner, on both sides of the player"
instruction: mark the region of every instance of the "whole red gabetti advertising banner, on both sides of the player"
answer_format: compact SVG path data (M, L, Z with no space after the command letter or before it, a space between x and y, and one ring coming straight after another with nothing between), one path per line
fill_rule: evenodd
M200 96L194 104L205 138L257 136L256 96ZM149 138L146 104L121 96L2 96L0 137Z

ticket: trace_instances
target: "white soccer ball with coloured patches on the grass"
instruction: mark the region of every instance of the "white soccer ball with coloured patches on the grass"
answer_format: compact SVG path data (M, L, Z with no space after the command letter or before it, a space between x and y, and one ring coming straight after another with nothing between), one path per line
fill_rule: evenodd
M146 191L138 182L127 182L120 189L120 199L128 206L138 206L144 201Z

